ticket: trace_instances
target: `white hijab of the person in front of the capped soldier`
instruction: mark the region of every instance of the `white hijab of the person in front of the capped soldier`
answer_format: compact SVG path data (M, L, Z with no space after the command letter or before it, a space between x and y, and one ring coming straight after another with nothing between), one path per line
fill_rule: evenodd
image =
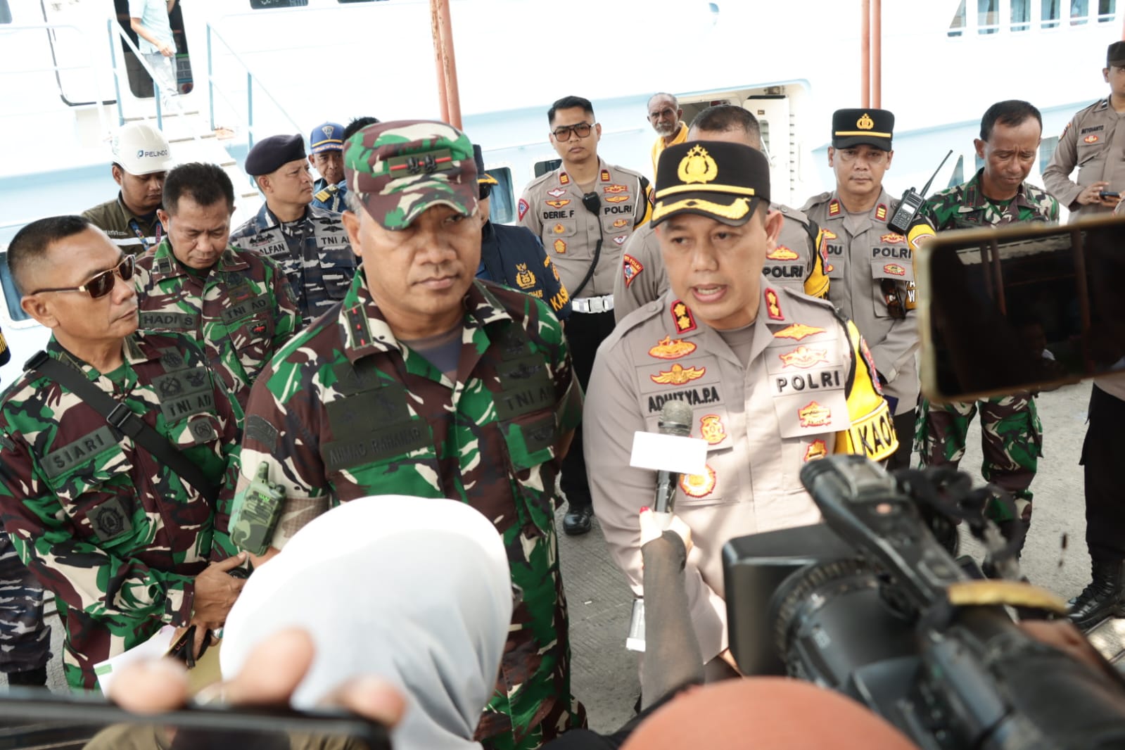
M294 707L374 675L407 698L396 750L472 748L511 618L507 557L487 518L457 500L367 497L317 517L254 571L220 662L230 678L262 639L305 627L316 657Z

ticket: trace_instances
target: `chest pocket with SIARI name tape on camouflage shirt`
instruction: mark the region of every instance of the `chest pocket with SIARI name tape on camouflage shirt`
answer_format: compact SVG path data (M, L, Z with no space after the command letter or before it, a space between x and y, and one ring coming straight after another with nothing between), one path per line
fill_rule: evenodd
M145 535L148 521L133 486L133 463L108 425L53 448L42 467L79 539L127 550Z

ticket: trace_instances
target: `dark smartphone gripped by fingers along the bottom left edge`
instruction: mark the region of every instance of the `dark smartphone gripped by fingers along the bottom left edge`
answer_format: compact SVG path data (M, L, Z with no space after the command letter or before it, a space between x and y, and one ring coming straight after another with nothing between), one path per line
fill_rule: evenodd
M134 714L99 696L11 688L0 695L0 750L390 750L387 731L346 712L191 707Z

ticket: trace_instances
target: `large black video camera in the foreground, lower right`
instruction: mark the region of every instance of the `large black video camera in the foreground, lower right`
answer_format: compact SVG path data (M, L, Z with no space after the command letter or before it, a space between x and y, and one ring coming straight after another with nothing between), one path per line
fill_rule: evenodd
M1006 608L1064 612L1054 595L954 560L933 530L947 535L968 481L938 476L896 478L857 455L806 464L825 522L723 548L741 671L842 692L925 750L1122 747L1120 678L1030 638Z

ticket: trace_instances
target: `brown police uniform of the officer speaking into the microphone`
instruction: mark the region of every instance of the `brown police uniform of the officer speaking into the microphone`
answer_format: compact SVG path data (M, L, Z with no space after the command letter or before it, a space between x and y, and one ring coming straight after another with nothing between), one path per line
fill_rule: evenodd
M765 287L752 328L744 365L718 332L664 295L598 349L583 410L594 509L640 594L637 510L650 504L655 476L629 466L632 435L656 432L669 399L692 407L692 437L708 442L706 475L681 479L675 508L692 530L687 590L705 660L727 648L722 545L819 519L800 480L806 461L844 451L878 460L897 448L874 365L856 354L866 346L857 333L849 340L829 302Z

